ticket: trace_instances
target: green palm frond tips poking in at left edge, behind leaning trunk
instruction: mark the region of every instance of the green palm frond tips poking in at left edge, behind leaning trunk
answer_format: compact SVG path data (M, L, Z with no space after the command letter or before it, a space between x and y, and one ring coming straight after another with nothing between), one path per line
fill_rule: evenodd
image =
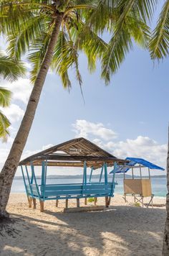
M16 78L24 74L24 66L21 62L14 58L9 58L0 52L0 77L9 81L14 81ZM9 106L11 99L11 91L0 87L0 106ZM0 138L6 141L9 135L9 119L0 110Z

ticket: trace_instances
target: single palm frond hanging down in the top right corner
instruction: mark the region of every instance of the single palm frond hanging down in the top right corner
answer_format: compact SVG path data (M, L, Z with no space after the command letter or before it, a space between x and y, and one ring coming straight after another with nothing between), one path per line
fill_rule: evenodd
M152 59L160 59L168 56L169 49L169 0L165 1L162 12L158 19L157 27L149 44L150 56Z

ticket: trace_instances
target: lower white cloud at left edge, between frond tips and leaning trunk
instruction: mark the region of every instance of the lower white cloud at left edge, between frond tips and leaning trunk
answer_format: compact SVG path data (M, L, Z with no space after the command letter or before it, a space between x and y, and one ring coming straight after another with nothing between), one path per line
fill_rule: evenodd
M11 104L7 108L0 108L3 114L9 119L10 122L19 122L24 116L24 110L16 104Z

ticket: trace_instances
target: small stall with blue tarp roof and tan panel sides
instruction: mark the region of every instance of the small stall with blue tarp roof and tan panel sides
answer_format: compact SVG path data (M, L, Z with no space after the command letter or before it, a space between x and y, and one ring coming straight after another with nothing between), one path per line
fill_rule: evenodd
M153 163L144 160L143 158L136 157L127 157L125 160L128 161L125 165L119 165L115 170L110 173L124 173L124 198L126 200L126 196L132 196L134 198L135 204L141 203L144 206L144 198L150 198L150 201L147 204L147 207L152 204L153 206L153 193L151 188L151 178L150 178L150 170L165 170L158 165L154 165ZM148 178L143 178L142 170L143 168L148 169ZM125 173L128 170L132 170L132 178L125 178ZM140 171L140 177L135 177L134 170Z

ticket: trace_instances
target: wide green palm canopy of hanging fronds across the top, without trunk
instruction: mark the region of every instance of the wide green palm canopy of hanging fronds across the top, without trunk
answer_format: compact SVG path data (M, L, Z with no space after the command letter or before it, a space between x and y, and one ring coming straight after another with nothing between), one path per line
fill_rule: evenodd
M96 60L102 63L102 78L120 67L133 41L147 47L150 28L146 24L155 9L156 0L22 0L2 1L1 32L7 34L9 53L20 59L29 52L33 68L32 81L47 52L57 13L64 14L51 68L62 78L65 88L71 86L69 69L74 67L80 86L78 55L87 55L89 70L95 70ZM112 35L107 44L102 33Z

